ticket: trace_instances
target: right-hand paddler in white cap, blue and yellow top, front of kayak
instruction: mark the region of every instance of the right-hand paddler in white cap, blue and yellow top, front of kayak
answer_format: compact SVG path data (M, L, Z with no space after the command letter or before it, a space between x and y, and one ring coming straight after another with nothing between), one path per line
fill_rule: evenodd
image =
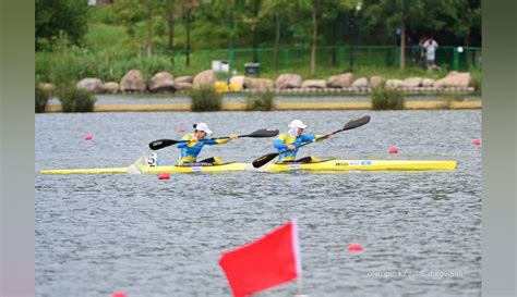
M300 163L311 163L320 161L314 156L304 157L296 160L298 153L298 146L312 141L322 137L323 135L313 135L313 134L303 134L304 129L308 126L303 124L300 120L294 120L289 124L289 131L287 133L281 133L278 138L274 141L274 147L278 150L278 163L281 162L300 162ZM332 132L327 133L330 137Z

